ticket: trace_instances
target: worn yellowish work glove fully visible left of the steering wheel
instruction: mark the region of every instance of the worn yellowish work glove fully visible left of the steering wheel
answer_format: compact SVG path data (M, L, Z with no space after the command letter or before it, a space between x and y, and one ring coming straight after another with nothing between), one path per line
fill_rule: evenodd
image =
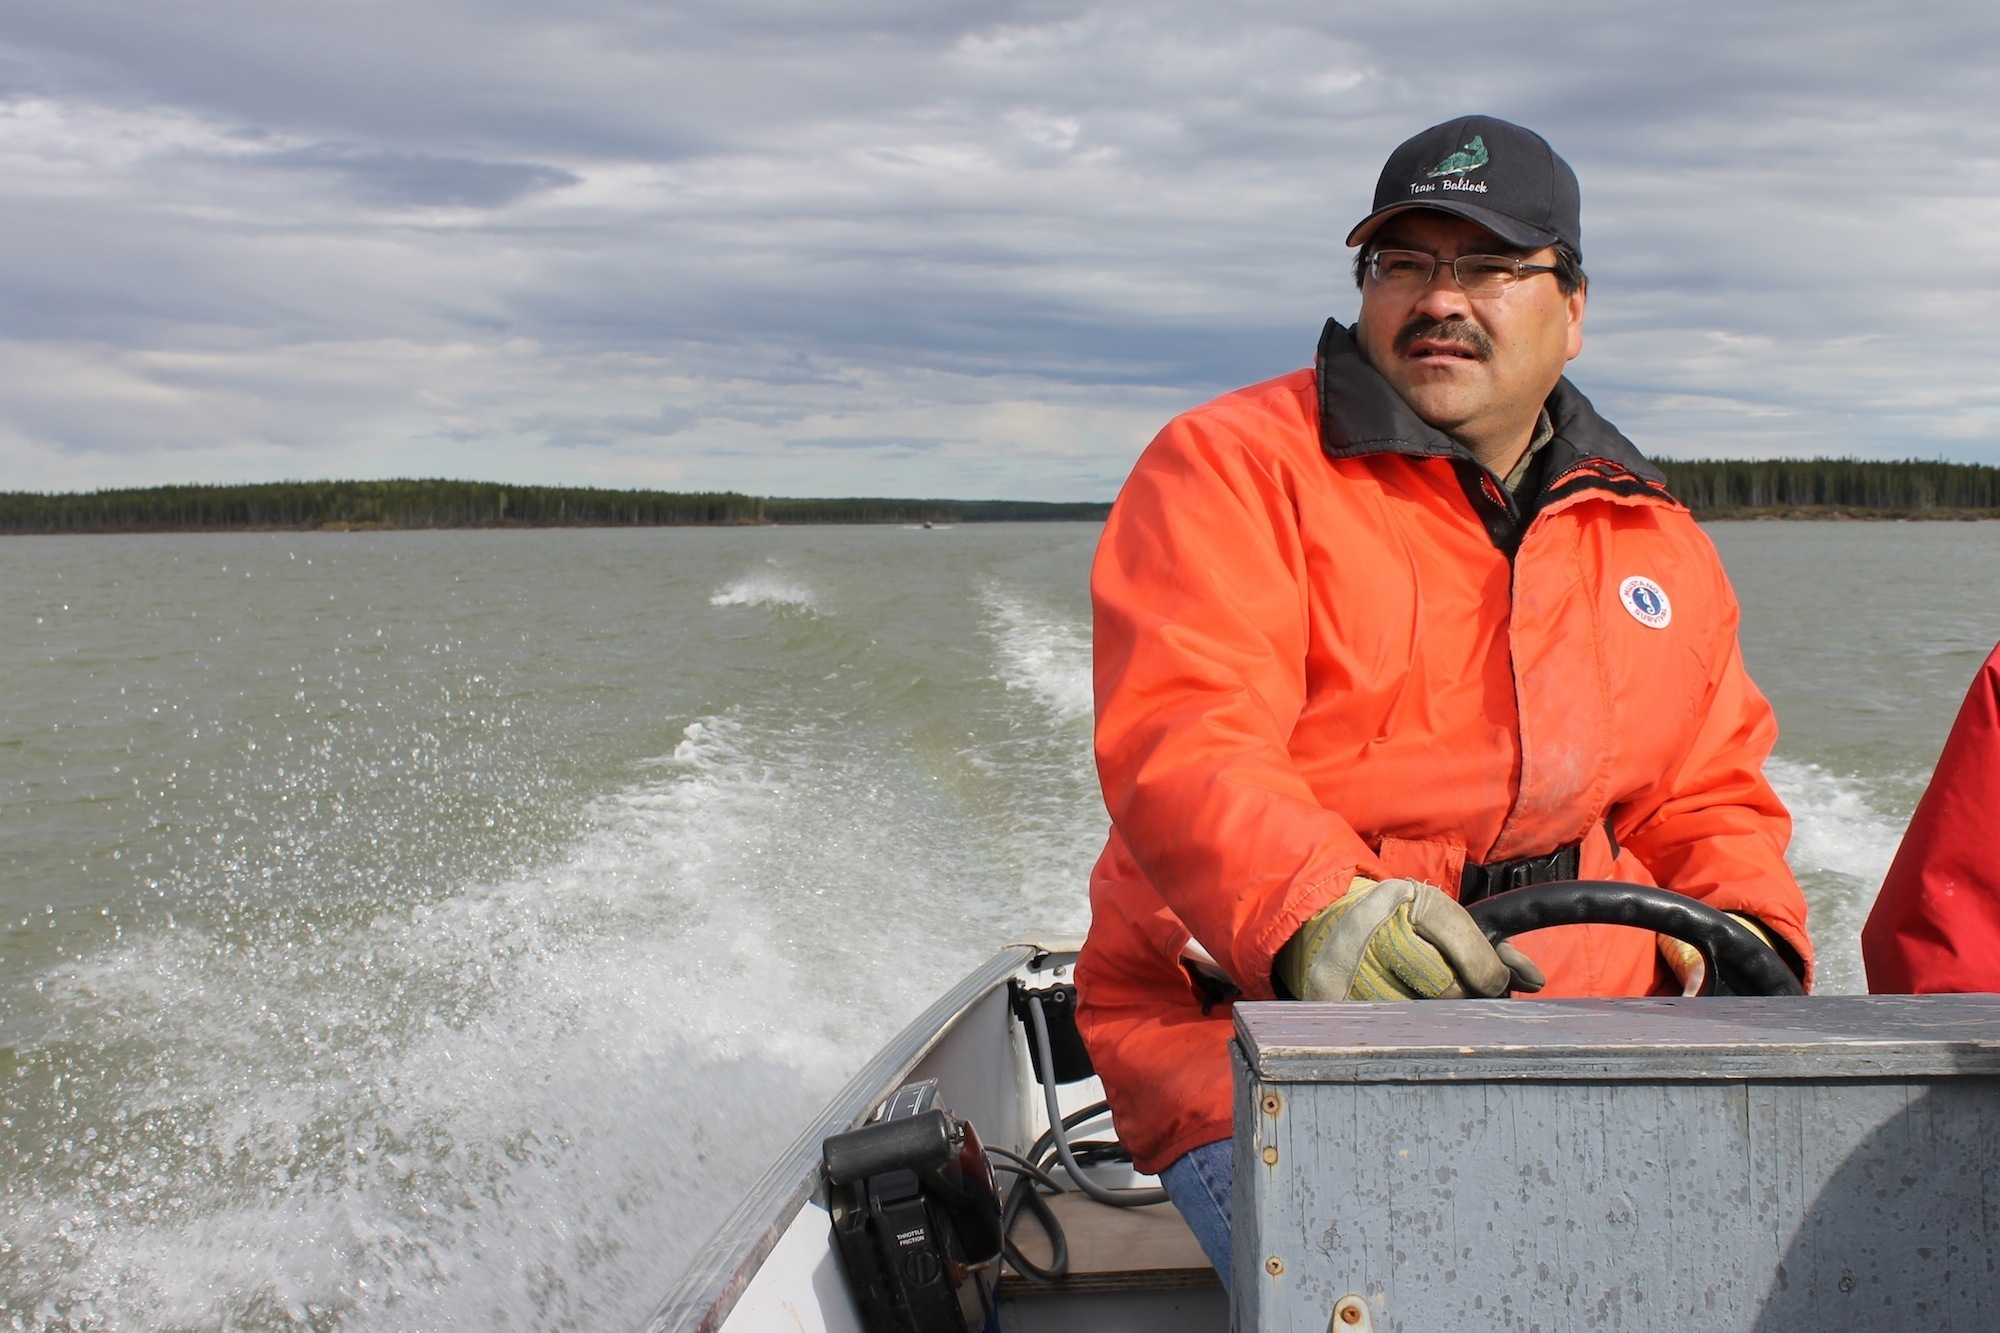
M1414 879L1354 877L1298 929L1272 965L1310 1001L1460 999L1540 991L1542 969L1508 943L1490 945L1466 909Z

